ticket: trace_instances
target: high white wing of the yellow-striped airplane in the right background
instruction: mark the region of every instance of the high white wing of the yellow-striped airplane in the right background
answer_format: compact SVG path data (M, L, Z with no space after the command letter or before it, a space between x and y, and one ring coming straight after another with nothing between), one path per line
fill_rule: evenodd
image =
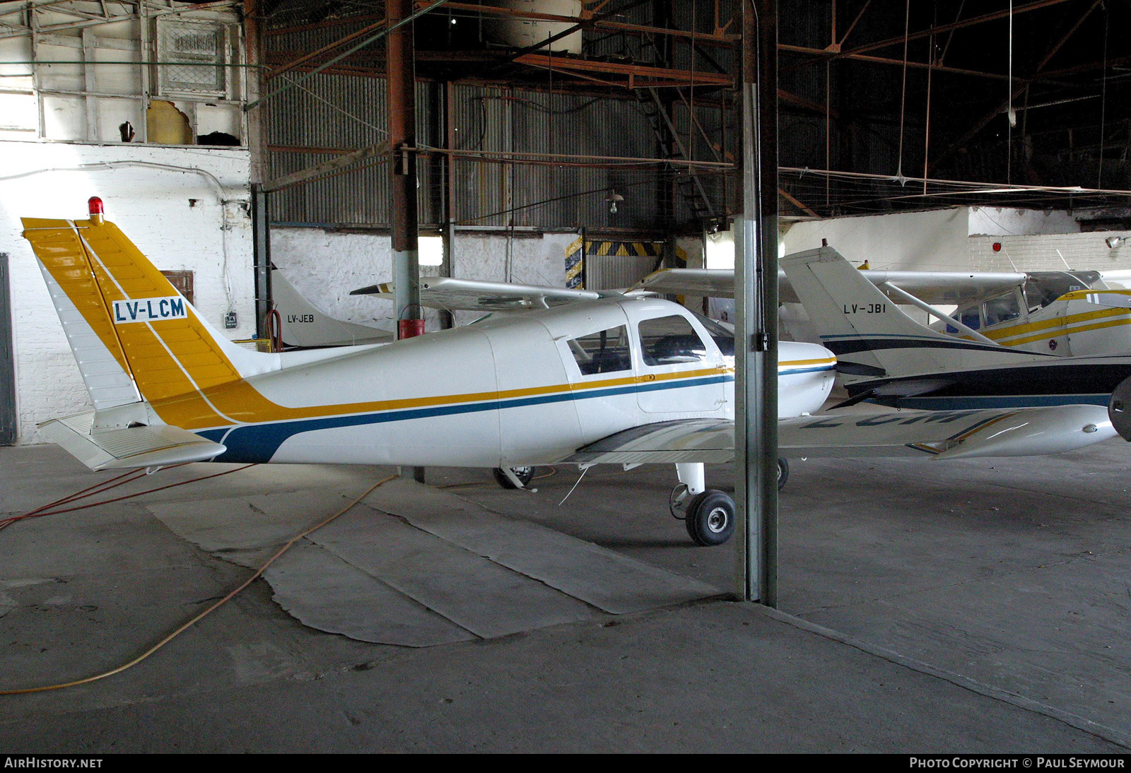
M888 271L864 269L861 275L889 297L884 283L910 293L924 303L958 304L1018 287L1025 275L1015 271ZM659 269L637 283L633 290L671 295L734 297L734 271L719 269ZM778 271L778 299L798 303L785 271ZM900 303L899 298L893 301ZM904 302L905 303L905 302Z

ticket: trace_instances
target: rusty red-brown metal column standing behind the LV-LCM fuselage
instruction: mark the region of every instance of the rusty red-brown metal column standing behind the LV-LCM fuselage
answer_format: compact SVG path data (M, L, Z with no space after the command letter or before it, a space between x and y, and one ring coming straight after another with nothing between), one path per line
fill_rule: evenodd
M402 322L422 320L420 255L416 216L416 67L413 43L414 25L397 24L413 12L412 0L388 0L385 6L386 69L388 75L389 170L392 174L389 224L392 227L392 281L396 286L394 310L397 338L413 325ZM424 468L412 468L413 478L423 483Z

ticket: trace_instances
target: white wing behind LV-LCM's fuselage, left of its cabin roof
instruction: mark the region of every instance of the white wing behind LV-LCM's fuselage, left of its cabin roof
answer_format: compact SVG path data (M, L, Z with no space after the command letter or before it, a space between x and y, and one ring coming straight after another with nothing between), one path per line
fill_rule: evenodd
M444 311L527 311L602 297L594 290L451 277L421 277L420 287L421 305ZM382 283L355 289L349 295L375 295L391 301L395 289L392 283Z

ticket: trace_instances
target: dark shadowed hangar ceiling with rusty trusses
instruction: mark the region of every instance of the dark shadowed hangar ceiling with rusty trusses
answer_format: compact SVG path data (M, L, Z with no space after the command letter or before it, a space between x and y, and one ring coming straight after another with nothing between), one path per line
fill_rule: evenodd
M655 84L671 102L673 94L716 110L733 102L740 24L731 0L587 2L595 15L582 53L555 53L550 68L545 50L485 35L483 19L498 14L481 5L489 3L446 3L416 21L418 77L620 99ZM385 3L268 0L261 11L275 33L333 37L380 24ZM1131 189L1128 29L1128 0L782 0L784 211L1126 206L1117 193L1047 189ZM282 67L317 47L268 62ZM299 69L344 50L330 46ZM334 67L380 73L383 58L377 42ZM986 192L1007 184L1044 190Z

